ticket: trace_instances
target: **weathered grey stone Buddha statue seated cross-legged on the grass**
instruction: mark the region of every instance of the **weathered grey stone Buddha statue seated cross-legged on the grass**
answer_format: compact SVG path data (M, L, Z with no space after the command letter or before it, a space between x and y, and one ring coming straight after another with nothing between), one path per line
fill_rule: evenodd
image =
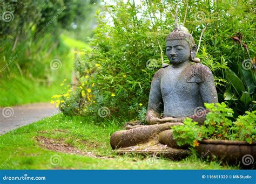
M178 26L167 36L166 55L171 65L163 65L153 76L146 113L149 125L130 125L129 130L114 132L110 139L113 149L151 139L177 148L171 126L183 125L186 117L204 123L204 103L217 103L218 97L212 72L199 63L196 53L197 45L186 27Z

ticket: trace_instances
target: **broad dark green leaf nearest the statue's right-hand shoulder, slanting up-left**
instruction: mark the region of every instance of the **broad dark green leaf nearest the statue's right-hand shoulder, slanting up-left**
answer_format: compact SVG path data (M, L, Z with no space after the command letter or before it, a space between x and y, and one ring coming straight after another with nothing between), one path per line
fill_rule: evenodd
M241 95L242 91L245 91L244 84L231 69L226 69L226 79L231 83L238 95Z

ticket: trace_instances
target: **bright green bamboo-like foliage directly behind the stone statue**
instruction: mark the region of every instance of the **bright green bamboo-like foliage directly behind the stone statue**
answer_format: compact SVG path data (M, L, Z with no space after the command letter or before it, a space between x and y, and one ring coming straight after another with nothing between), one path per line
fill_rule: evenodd
M153 74L163 62L169 62L164 54L165 38L174 28L172 15L175 15L176 5L174 1L143 1L140 4L117 1L114 5L106 5L104 11L97 12L98 26L90 39L93 49L87 51L75 65L79 83L87 82L81 93L87 88L92 89L92 98L96 101L85 107L90 109L88 113L97 112L100 105L109 108L112 115L132 119L139 110L136 104L147 104ZM239 32L248 51L253 53L255 49L253 7L250 1L188 1L188 6L185 1L179 3L178 24L183 24L185 19L185 26L197 44L207 25L198 57L213 72L220 102L225 101L224 97L233 95L231 92L224 95L227 89L233 88L232 83L237 85L235 81L230 81L233 75L225 76L225 70L230 68L238 74L237 63L241 65L242 61L251 57L249 52L237 49L237 43L231 37ZM252 72L251 68L249 70ZM248 74L239 80L251 86L251 101L248 95L241 96L246 93L246 88L240 85L240 100L237 103L245 102L246 107L238 106L235 117L244 114L248 105L255 101L251 91L255 83L248 79ZM95 87L91 88L93 83ZM230 101L228 105L235 108L237 103Z

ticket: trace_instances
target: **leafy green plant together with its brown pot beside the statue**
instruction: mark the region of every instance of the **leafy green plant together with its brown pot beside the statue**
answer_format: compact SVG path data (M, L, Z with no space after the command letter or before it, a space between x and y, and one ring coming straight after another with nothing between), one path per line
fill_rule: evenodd
M184 126L173 126L173 138L179 146L190 145L198 154L218 158L231 165L254 167L256 159L256 111L246 111L232 121L233 110L223 103L205 104L210 112L204 125L186 118Z

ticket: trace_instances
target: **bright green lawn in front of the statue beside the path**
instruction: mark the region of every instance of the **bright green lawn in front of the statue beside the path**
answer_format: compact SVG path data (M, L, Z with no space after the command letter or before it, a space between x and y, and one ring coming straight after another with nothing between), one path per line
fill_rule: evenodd
M195 155L181 161L139 155L116 155L110 135L120 130L116 121L96 123L91 117L64 117L59 114L23 126L0 136L1 169L235 169L217 162L200 161ZM62 141L79 150L107 158L68 154L41 147L35 137ZM51 157L61 158L57 165Z

